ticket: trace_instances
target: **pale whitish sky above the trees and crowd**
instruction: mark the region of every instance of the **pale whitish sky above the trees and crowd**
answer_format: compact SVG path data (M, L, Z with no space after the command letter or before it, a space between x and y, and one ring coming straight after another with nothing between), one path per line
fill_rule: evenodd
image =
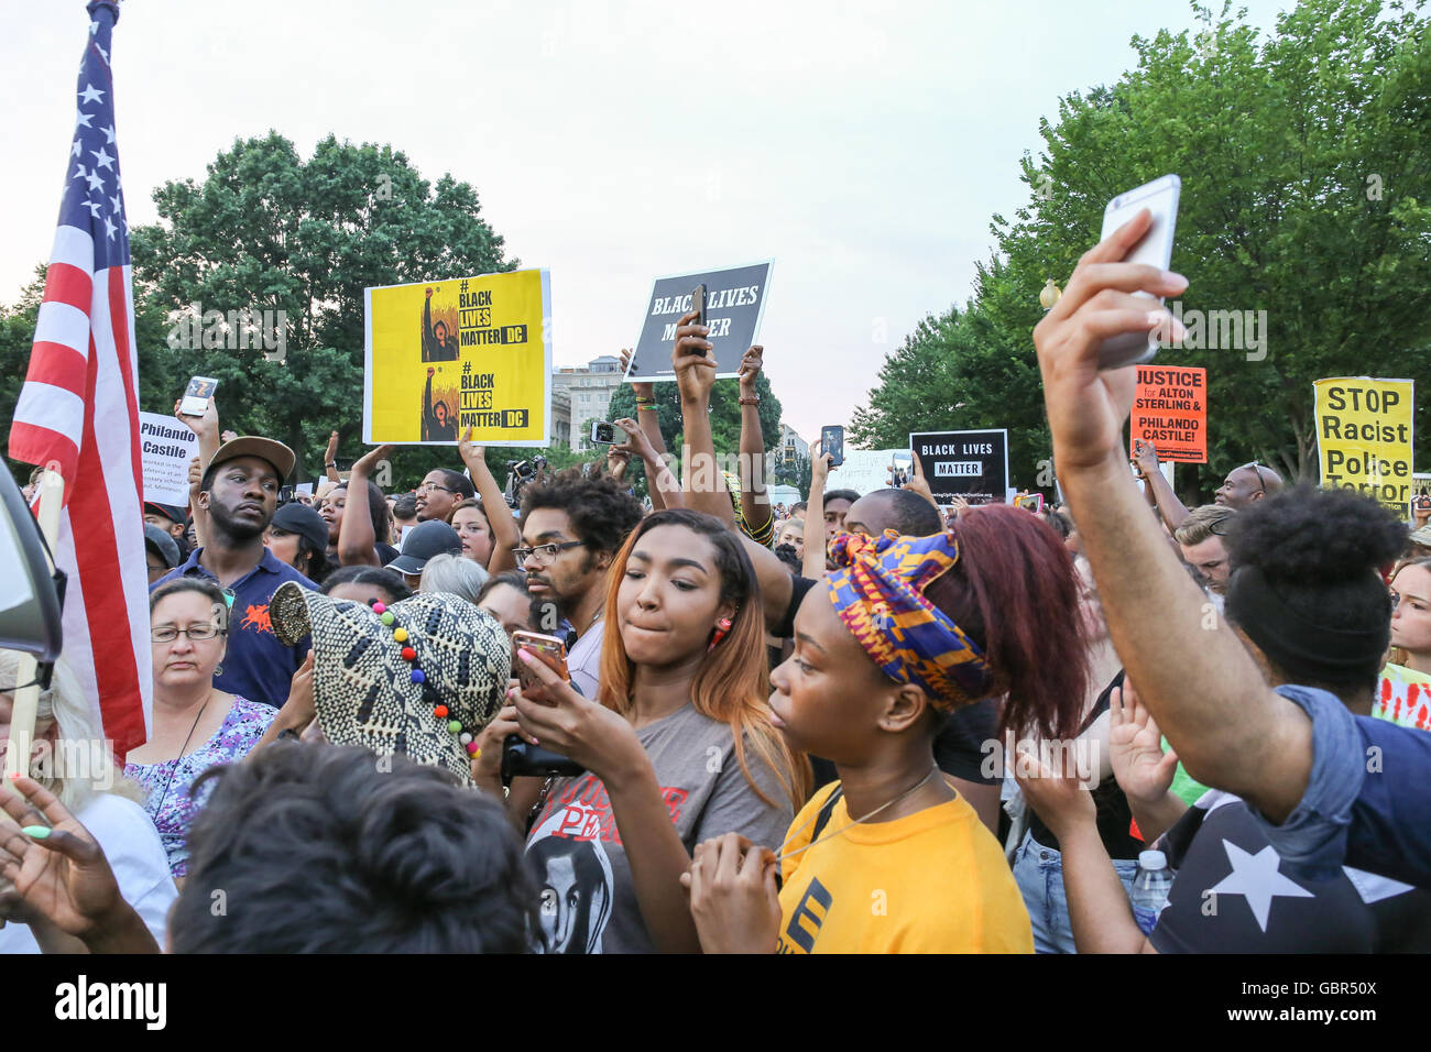
M1244 6L1269 30L1291 0ZM7 14L0 302L50 250L89 21L82 0ZM760 342L809 439L969 296L1059 96L1116 82L1135 33L1195 24L1183 0L127 0L126 208L153 222L156 186L269 129L305 157L328 133L391 143L472 183L508 256L551 271L557 365L630 346L657 275L773 258Z

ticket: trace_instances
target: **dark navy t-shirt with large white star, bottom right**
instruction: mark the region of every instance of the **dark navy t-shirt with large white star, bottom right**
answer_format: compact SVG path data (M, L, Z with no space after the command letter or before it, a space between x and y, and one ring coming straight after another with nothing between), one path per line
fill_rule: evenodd
M1431 950L1431 892L1347 867L1332 880L1292 880L1231 793L1199 799L1159 847L1176 872L1149 936L1159 953Z

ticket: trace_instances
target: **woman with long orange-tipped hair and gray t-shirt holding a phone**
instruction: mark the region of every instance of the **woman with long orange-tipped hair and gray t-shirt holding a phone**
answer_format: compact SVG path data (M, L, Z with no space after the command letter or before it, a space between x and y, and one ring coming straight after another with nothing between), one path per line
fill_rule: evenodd
M474 774L499 790L512 733L585 767L548 779L531 816L550 953L694 952L681 875L703 839L771 839L809 793L809 766L773 726L760 588L740 540L710 515L667 510L631 531L611 567L600 697L587 700L528 650L542 687L479 740ZM615 628L615 631L612 631ZM532 781L528 779L527 781Z

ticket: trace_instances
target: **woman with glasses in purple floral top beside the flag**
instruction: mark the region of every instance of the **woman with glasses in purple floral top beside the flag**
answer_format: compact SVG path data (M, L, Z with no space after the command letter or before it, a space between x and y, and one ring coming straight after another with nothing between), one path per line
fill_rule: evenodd
M189 786L209 767L243 759L275 716L270 706L215 688L228 624L229 603L213 581L180 577L149 597L153 730L130 750L124 774L143 787L145 810L180 883L189 872L189 823L200 806Z

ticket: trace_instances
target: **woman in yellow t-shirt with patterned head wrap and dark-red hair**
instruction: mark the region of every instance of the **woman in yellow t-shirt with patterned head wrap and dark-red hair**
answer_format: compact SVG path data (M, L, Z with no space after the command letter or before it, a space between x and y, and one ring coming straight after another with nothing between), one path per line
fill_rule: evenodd
M1005 505L924 538L844 534L830 551L839 568L800 605L770 708L840 781L784 844L728 834L697 847L683 883L701 948L1030 953L1003 852L939 773L933 740L949 713L990 696L1006 696L1005 729L1078 733L1088 671L1072 560Z

